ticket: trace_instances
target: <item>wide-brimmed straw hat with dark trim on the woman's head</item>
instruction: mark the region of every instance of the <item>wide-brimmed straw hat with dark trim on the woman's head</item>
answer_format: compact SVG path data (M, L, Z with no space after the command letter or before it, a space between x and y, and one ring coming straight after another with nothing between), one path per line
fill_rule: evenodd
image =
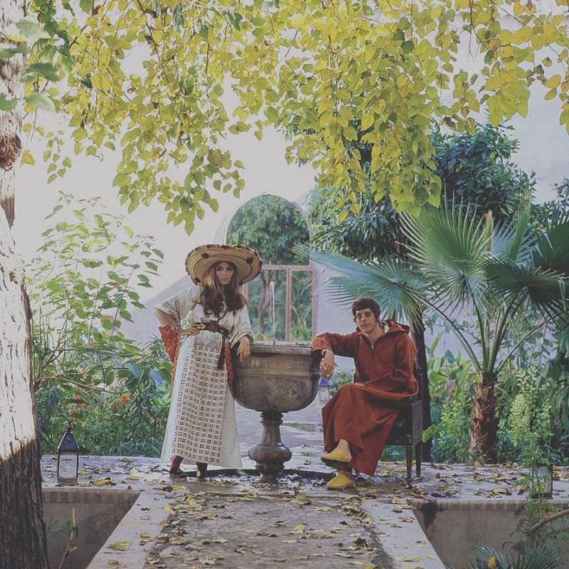
M232 262L237 267L239 284L253 280L260 272L262 259L257 251L244 245L200 245L186 257L186 271L196 285L203 285L206 272L216 262Z

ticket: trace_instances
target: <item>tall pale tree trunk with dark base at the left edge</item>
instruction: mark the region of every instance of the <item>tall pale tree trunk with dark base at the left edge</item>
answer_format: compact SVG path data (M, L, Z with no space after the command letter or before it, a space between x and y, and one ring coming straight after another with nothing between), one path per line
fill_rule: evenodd
M24 0L0 2L0 34L24 15ZM0 93L21 98L21 55L0 59ZM0 569L47 569L40 451L31 390L30 329L23 268L11 236L21 103L0 111Z

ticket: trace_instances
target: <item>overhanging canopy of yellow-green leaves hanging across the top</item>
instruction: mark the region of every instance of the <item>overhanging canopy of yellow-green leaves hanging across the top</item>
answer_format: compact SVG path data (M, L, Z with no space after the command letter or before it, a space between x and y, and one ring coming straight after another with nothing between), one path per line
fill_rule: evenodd
M32 0L45 37L31 52L30 85L70 117L75 153L121 152L125 203L158 200L188 232L204 206L217 207L216 191L243 188L226 134L260 138L267 126L289 134L287 158L339 188L340 216L358 213L365 188L416 210L439 203L432 119L472 132L480 110L493 125L526 116L539 82L569 128L565 0L542 4ZM461 43L483 60L472 71ZM227 87L234 97L223 97ZM61 135L45 134L55 180L71 161ZM370 147L365 168L356 143Z

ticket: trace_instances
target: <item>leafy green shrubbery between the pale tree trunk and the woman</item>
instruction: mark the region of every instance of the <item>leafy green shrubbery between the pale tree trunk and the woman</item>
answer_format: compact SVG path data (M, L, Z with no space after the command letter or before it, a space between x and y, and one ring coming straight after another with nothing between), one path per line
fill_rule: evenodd
M97 200L62 195L28 264L33 385L43 452L65 421L89 454L160 454L171 363L120 330L162 254Z

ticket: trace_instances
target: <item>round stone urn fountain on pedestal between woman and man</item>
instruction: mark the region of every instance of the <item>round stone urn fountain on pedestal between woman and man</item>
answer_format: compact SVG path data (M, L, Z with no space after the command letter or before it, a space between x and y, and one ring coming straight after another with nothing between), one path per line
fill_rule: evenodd
M292 457L280 439L282 415L312 403L318 392L320 358L308 347L252 344L248 360L235 365L235 400L261 413L261 440L249 450L260 482L277 482Z

